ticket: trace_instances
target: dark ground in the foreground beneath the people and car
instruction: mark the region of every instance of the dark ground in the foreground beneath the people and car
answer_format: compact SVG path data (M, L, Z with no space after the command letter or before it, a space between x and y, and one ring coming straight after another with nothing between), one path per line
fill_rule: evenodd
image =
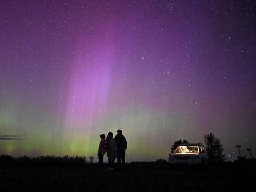
M167 166L127 165L124 170L91 167L0 167L0 191L252 191L255 169L225 167L209 172Z

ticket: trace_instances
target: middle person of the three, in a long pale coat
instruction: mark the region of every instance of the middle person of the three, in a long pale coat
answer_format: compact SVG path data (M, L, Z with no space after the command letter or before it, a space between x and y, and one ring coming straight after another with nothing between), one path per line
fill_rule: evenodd
M113 139L113 133L109 132L107 136L107 156L108 156L108 165L109 170L114 169L114 162L117 156L117 145L115 139Z

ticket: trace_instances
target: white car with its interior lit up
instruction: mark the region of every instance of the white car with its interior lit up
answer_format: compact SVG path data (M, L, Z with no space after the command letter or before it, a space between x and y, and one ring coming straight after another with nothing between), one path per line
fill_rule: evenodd
M184 169L196 167L207 170L209 157L202 143L183 143L178 145L173 153L169 154L169 171L175 168Z

